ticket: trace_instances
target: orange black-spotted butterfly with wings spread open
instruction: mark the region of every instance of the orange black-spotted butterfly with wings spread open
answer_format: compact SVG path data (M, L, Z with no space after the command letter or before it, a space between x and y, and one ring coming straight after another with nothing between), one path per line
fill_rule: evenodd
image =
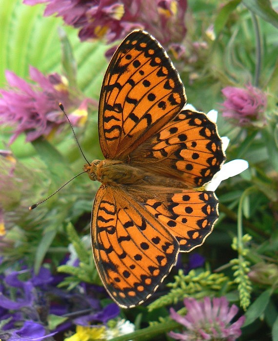
M202 190L225 160L215 123L186 103L159 42L135 30L119 45L99 99L104 160L84 166L101 183L92 210L96 267L123 308L146 301L177 262L202 245L218 200Z

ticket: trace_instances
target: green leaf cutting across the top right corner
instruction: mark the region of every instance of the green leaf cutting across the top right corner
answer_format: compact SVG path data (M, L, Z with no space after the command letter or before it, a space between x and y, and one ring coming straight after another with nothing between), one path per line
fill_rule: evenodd
M278 28L278 13L271 6L269 0L243 0L242 3L261 19Z

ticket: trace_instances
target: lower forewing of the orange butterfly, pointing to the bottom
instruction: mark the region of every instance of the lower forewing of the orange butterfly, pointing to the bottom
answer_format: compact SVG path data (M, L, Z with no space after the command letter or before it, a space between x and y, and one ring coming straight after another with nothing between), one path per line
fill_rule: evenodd
M120 187L101 186L92 212L92 245L103 285L123 308L144 302L176 263L179 243Z

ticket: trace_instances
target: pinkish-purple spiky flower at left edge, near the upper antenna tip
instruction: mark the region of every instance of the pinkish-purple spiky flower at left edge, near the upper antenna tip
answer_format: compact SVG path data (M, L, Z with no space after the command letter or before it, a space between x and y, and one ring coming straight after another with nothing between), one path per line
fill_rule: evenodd
M12 143L20 133L26 133L26 141L34 141L40 136L49 136L66 122L60 111L59 102L69 112L79 107L79 119L74 114L73 124L82 118L89 99L80 101L78 96L72 99L68 81L58 74L43 76L39 70L30 67L30 78L37 84L31 85L25 80L6 71L6 79L10 90L0 90L0 124L15 126L16 130L11 137Z

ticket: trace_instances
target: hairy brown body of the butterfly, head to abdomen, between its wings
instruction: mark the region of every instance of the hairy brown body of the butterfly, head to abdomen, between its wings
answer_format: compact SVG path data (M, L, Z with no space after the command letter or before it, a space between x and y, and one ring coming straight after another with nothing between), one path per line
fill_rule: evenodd
M104 185L187 188L178 179L159 175L155 172L150 173L119 160L94 160L91 164L84 165L83 169L88 173L91 180L97 180Z

